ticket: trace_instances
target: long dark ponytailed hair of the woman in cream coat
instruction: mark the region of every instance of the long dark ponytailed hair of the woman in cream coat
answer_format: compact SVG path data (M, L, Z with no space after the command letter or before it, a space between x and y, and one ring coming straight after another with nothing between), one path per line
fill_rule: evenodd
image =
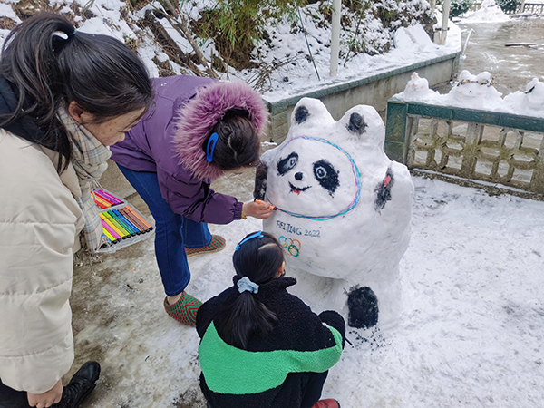
M62 15L43 13L18 24L5 39L0 75L17 98L0 126L27 117L40 131L33 141L60 153L63 170L72 156L72 137L57 116L72 101L100 124L147 110L151 81L141 59L108 35L76 32Z

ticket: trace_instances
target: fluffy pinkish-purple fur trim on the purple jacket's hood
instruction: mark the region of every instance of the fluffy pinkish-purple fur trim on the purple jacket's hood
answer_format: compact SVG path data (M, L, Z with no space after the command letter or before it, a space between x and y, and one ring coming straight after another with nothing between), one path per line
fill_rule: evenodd
M246 83L211 83L177 112L174 121L176 153L185 168L199 180L216 180L224 174L206 160L202 143L216 123L231 109L249 112L249 120L261 134L268 112L260 95Z

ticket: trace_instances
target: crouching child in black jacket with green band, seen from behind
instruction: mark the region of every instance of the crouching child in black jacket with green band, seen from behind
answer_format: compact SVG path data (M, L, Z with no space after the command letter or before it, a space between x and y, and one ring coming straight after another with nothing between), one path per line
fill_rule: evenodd
M200 388L212 408L336 408L318 401L342 354L345 322L317 316L287 287L283 249L258 231L233 255L234 286L199 309Z

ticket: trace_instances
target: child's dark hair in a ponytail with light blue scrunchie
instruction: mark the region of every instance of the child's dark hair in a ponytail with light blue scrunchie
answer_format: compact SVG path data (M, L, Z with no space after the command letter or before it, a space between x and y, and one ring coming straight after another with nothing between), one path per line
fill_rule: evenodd
M238 277L248 277L257 285L266 284L276 277L284 261L283 249L277 239L267 232L262 235L262 238L244 242L232 256ZM276 315L248 291L240 293L232 303L223 306L214 320L219 335L228 344L240 348L248 345L251 335L267 334L276 321Z

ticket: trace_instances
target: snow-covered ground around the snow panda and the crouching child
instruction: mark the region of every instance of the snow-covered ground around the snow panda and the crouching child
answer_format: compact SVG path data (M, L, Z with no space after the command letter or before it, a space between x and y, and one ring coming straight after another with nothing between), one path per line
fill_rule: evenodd
M324 397L346 408L540 407L544 202L413 181L400 323L383 332L349 330L353 346L330 371ZM251 174L215 188L248 200ZM131 202L149 214L141 199ZM234 248L259 228L256 219L211 226L228 247L190 258L189 293L206 300L231 285ZM102 379L83 408L204 407L199 338L162 309L152 240L102 260L74 273L77 363L102 364ZM304 292L310 306L320 296Z

